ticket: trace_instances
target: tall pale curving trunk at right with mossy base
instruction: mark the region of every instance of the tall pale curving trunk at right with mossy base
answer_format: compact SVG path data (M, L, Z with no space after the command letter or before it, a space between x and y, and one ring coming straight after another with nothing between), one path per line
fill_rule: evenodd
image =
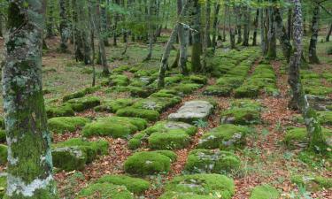
M294 3L294 54L290 58L289 83L293 92L292 103L297 105L305 119L305 126L308 132L309 148L323 152L327 145L321 133L320 122L317 120L316 111L314 111L305 96L300 78L300 65L302 57L302 11L300 0L293 0Z

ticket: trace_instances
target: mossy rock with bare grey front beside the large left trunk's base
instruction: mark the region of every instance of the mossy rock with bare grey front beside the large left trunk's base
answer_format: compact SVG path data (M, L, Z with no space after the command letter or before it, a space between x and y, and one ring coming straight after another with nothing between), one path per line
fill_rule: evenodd
M81 170L97 156L108 153L108 142L89 142L81 138L58 142L52 146L54 166L65 171Z

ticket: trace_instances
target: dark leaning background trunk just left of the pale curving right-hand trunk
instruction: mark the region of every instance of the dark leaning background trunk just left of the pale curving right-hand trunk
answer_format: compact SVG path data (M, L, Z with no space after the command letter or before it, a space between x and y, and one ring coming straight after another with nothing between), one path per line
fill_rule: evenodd
M274 7L274 18L276 24L276 34L279 39L279 42L282 44L282 53L283 56L286 58L287 63L289 63L292 47L290 44L290 38L288 38L286 33L286 28L283 27L282 14L278 7Z

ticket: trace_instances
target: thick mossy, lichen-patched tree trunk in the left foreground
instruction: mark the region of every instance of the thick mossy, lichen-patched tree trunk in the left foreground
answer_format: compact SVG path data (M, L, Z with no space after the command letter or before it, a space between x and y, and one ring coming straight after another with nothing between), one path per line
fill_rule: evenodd
M3 97L8 144L5 198L58 198L42 96L42 0L12 0Z

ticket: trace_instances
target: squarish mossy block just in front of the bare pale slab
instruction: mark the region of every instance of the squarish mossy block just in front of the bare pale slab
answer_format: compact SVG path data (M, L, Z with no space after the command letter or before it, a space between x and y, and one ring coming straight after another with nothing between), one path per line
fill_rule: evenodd
M153 133L148 138L151 149L184 149L190 144L190 136L183 130Z

